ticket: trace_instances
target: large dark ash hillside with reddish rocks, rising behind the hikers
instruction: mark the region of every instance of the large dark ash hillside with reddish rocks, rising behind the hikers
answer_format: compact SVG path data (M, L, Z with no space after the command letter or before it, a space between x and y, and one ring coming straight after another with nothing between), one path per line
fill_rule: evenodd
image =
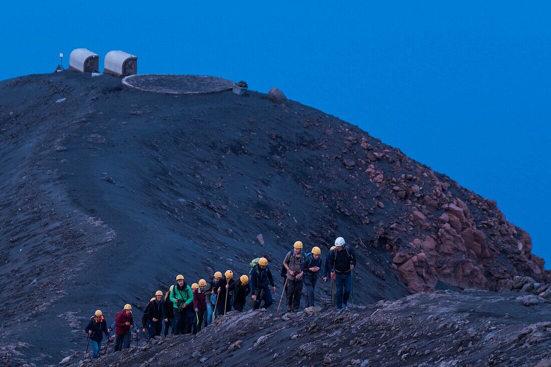
M246 272L299 239L355 247L356 304L547 277L495 202L297 102L33 75L0 83L0 138L0 352L20 341L40 363L83 348L97 308L111 320L177 273Z

